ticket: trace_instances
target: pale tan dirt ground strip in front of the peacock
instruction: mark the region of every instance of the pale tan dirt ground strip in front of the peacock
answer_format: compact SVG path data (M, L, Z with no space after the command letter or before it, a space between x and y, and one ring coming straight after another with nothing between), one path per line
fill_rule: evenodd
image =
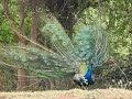
M0 99L132 99L132 90L110 88L0 92Z

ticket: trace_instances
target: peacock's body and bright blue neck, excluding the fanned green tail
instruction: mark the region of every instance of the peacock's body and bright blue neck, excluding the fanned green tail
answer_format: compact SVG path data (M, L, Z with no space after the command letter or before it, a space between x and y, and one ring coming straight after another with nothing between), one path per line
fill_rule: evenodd
M95 84L95 76L92 74L92 64L86 65L81 63L79 66L79 72L74 75L74 81L80 87L88 87Z

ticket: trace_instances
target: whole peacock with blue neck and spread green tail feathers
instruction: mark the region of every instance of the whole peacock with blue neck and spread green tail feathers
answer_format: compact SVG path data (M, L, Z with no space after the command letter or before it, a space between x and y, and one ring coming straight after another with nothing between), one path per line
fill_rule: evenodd
M26 69L40 78L72 77L80 87L94 85L94 69L102 66L108 55L108 37L101 23L77 21L70 40L54 15L42 15L40 20L40 31L52 48L33 41L35 45L1 45L1 64Z

